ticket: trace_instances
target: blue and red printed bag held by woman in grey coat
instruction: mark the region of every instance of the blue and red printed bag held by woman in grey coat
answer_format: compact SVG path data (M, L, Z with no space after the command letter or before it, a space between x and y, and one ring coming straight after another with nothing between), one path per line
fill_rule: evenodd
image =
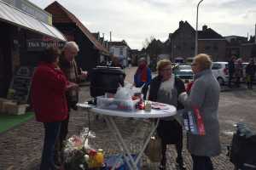
M191 109L177 111L180 116L183 128L192 134L205 135L206 129L201 116L199 107L194 106Z

